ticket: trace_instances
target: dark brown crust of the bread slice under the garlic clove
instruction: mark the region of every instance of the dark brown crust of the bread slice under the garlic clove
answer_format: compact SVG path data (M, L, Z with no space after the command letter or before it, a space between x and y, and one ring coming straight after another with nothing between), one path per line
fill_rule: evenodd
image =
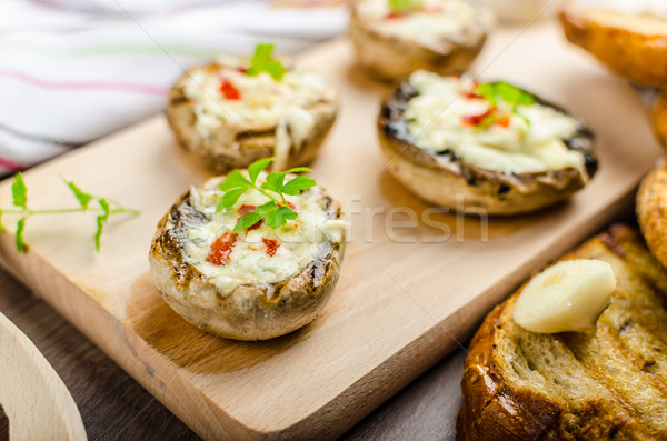
M659 281L660 284L667 283L667 271L661 268L657 269L659 264L655 261L651 262L653 258L643 244L640 235L626 225L613 227L561 260L586 258L611 262L615 267L620 291L630 290L633 285L640 287L641 282L637 281L637 277L640 280L653 281L653 283L655 281ZM646 263L646 267L643 263ZM654 272L654 270L657 272ZM522 330L512 320L514 304L521 289L487 315L470 342L461 380L464 404L457 420L458 439L461 441L665 439L667 437L667 430L664 429L665 421L655 424L663 424L663 429L649 427L646 415L638 413L623 397L621 392L614 390L614 375L610 375L613 381L609 382L609 379L605 379L599 374L603 371L590 373L590 378L593 381L599 382L601 388L607 389L606 394L591 394L593 398L578 403L566 399L567 391L558 393L558 391L542 390L529 380L526 380L522 384L516 382L512 372L517 368L514 367L514 363L520 362L516 357L528 358L528 355L520 355L525 353L522 351L529 350L521 341L526 339L526 335L532 334ZM648 290L651 289L655 289L655 287ZM593 348L591 341L594 339L598 339L607 332L607 327L610 325L610 320L614 318L611 309L616 311L620 309L617 304L624 303L625 293L615 292L613 294L613 305L609 307L609 311L603 313L596 324L597 329L588 334L538 335L541 335L540 339L544 341L550 341L568 353L575 353L574 363L577 363L577 360L590 358L590 360L581 362L598 364L603 370L610 369L606 367L607 362L604 359L595 355L595 353L591 354L593 349L588 348L589 344ZM630 292L630 295L640 295L635 299L641 303L641 295L645 295L645 293ZM653 294L648 293L646 295L650 297ZM638 309L631 311L631 313L636 318L645 312ZM630 325L631 321L624 320L626 320L624 325ZM614 339L618 337L614 337L614 332L626 331L624 325L620 327L620 330L613 331L610 340L604 343L617 344ZM633 323L633 325L638 324ZM518 348L517 353L519 355L514 359L504 357L501 352L506 351L509 345ZM631 365L631 360L628 364ZM528 367L530 367L530 363L528 363ZM575 368L574 365L569 367L570 371L564 371L563 374L579 375L579 371ZM593 368L593 371L595 369ZM643 374L649 381L649 384L655 384L651 377L645 374L640 367L634 369ZM539 367L532 367L530 370L539 370ZM575 377L573 381L578 381L578 378ZM584 381L584 378L580 381ZM623 378L619 377L618 381L623 381ZM566 389L565 385L559 387L558 382L555 384L556 388ZM639 392L637 391L637 393ZM667 405L667 391L663 391L661 399L664 405ZM660 405L659 402L655 404Z

